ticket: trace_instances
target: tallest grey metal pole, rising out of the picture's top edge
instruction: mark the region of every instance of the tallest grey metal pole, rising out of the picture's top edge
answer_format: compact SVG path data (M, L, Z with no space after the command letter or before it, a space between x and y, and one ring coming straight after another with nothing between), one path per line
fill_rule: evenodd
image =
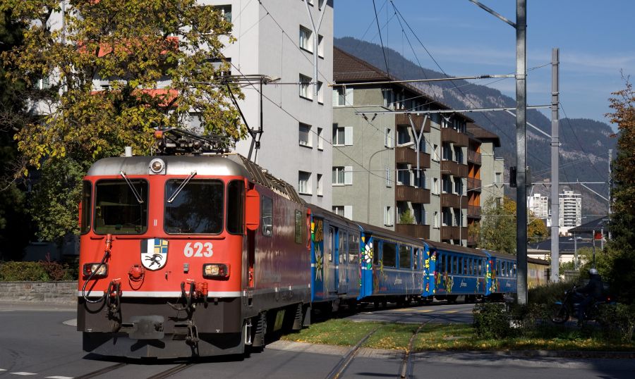
M516 0L516 290L518 304L527 304L527 1Z

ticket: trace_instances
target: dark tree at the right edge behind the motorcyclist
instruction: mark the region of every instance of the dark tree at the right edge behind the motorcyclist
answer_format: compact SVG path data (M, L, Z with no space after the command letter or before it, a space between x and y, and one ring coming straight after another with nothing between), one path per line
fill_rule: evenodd
M617 159L612 164L612 240L607 244L605 278L620 301L635 300L635 92L628 79L626 87L614 92L610 100L611 123L617 124Z

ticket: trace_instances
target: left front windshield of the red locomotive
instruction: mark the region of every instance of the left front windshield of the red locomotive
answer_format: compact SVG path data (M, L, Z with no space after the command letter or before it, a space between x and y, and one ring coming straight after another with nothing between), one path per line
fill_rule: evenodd
M95 233L99 235L140 235L147 230L147 181L99 180L95 184Z

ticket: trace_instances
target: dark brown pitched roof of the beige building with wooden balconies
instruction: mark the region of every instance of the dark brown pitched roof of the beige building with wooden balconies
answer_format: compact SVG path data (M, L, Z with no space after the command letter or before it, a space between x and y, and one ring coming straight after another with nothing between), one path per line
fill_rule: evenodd
M362 59L347 53L344 50L333 47L333 81L335 83L354 83L354 82L383 82L401 80L399 77L394 77L389 73L385 73L370 63L363 61ZM421 95L425 101L431 104L435 104L442 109L452 109L449 106L436 101L430 97L430 95L423 92L418 87L410 85L408 83L394 83L400 87L409 89L410 91ZM457 115L465 118L468 123L472 122L471 118L468 118L464 114L456 113Z

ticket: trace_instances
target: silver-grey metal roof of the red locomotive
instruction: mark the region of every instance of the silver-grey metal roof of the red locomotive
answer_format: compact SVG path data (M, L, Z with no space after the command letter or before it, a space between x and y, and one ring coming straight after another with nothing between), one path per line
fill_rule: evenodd
M190 175L196 171L198 175L243 176L298 204L305 204L293 186L284 180L275 178L267 173L267 170L240 154L118 156L100 159L93 163L86 175L119 175L121 171L126 175L149 175L150 162L153 159L161 159L165 162L166 175Z

